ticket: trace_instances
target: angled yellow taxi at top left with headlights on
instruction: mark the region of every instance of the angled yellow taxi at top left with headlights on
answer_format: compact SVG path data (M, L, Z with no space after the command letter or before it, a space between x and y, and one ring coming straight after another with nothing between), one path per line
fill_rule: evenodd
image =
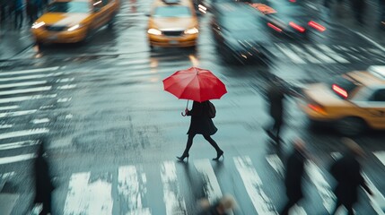
M112 26L118 8L119 0L56 0L31 32L38 44L80 42L102 26Z

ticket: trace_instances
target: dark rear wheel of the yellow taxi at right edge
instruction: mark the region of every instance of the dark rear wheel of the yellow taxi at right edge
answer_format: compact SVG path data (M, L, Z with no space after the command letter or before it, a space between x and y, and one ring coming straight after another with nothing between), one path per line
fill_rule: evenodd
M363 133L365 127L363 119L358 117L346 117L338 120L335 124L337 132L346 136L354 136Z

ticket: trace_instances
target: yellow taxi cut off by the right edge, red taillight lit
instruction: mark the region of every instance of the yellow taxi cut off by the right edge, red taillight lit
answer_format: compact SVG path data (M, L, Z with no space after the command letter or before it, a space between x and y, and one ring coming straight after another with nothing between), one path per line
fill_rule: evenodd
M355 135L365 128L385 129L385 65L345 73L303 90L300 107L312 120L332 122L339 133Z

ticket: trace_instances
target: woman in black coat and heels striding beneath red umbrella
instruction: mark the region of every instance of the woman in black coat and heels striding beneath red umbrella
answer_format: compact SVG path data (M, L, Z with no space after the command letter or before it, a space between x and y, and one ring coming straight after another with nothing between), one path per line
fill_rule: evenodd
M216 158L214 160L218 160L223 156L223 150L221 150L216 144L216 142L211 138L211 135L216 133L218 129L215 127L213 120L210 118L209 114L209 104L208 101L197 102L194 101L193 107L191 110L186 108L185 114L187 116L191 116L190 126L188 128L188 142L186 145L186 149L184 150L182 156L177 157L180 161L187 158L188 159L188 151L190 150L193 139L196 134L202 134L207 142L214 147L216 150Z

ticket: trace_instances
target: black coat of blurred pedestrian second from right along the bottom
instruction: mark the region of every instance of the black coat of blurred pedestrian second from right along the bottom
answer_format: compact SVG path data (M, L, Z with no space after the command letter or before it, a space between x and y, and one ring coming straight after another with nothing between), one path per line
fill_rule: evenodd
M289 200L299 201L303 197L302 176L304 173L305 157L298 150L294 150L286 163L286 173L284 185L286 186L286 195Z

